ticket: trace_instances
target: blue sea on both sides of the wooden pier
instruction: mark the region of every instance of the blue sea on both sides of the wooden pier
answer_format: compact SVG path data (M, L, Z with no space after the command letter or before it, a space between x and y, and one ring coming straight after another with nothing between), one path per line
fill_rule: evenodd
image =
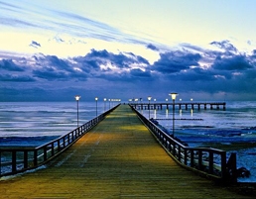
M126 102L125 102L126 103ZM0 102L0 147L38 147L72 131L78 125L115 106L117 102ZM78 109L77 109L78 107ZM170 108L171 107L171 108ZM173 110L139 110L173 133ZM78 112L78 121L77 121ZM246 143L245 148L227 150L237 154L237 167L250 170L241 182L256 182L256 102L226 102L210 110L197 106L175 109L175 137L191 147L231 146Z

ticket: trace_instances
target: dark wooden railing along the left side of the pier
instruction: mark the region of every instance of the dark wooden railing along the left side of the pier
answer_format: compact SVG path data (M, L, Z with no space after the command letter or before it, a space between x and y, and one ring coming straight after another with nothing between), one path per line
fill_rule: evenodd
M117 105L119 106L119 105ZM37 148L0 148L0 176L37 168L74 144L80 137L102 121L117 106L86 122L64 136Z

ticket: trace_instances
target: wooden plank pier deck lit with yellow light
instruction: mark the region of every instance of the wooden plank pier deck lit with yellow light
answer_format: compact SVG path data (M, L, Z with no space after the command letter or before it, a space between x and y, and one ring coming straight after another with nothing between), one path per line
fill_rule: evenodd
M0 198L232 198L162 149L128 105L121 105L46 167L3 177Z

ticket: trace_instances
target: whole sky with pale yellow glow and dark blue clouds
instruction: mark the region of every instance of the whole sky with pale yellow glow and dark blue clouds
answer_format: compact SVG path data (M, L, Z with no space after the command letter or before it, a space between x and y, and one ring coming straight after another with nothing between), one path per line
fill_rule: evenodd
M256 99L254 0L0 0L0 101Z

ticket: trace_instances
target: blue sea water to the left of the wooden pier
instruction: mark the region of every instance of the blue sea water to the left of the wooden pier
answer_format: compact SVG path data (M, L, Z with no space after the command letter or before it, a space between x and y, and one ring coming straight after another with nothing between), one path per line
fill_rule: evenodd
M113 104L97 102L97 114ZM96 103L79 102L78 123L96 117ZM0 147L40 146L77 127L77 104L74 102L1 102Z

